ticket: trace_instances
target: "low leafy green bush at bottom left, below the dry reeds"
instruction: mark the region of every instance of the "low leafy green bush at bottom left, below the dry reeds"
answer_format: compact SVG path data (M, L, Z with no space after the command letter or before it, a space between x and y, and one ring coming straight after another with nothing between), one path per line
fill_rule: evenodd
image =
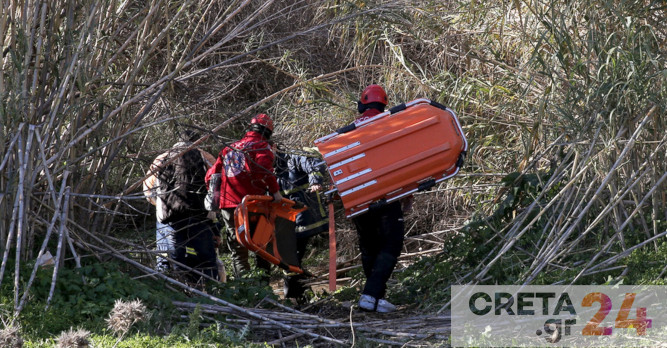
M31 292L31 300L21 312L23 331L33 338L48 338L71 327L85 327L101 332L117 299L140 299L155 311L168 311L177 294L167 293L157 281L136 281L120 272L114 263L94 263L80 269L62 268L58 273L51 305L46 300L51 287L52 269L39 269ZM22 274L30 274L24 270ZM3 304L11 307L13 301L13 274L3 281ZM84 281L85 280L85 281ZM158 316L165 318L165 316ZM151 325L147 325L151 327ZM161 327L156 325L153 327Z

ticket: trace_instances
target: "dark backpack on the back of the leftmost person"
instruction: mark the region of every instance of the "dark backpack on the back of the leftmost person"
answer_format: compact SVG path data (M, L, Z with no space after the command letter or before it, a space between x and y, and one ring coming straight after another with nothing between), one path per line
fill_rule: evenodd
M197 149L187 151L157 174L163 204L163 222L171 223L206 213L207 164Z

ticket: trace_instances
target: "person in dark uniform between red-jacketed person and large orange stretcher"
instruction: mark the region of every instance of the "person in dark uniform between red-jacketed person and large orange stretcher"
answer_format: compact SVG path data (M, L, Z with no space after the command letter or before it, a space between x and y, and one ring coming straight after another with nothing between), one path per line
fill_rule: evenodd
M275 171L282 195L308 207L296 217L296 252L299 263L303 260L310 237L327 230L329 220L324 202L318 194L324 184L324 162L315 155L283 151L274 145ZM306 287L303 274L288 274L284 278L286 298L302 300Z

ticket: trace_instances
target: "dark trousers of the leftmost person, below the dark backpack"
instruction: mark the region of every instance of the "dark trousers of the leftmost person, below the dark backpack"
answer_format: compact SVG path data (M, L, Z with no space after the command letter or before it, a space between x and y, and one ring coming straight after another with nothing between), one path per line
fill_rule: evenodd
M174 228L174 250L171 258L194 268L211 278L218 279L215 246L213 241L215 224L205 217L188 217L172 222ZM176 265L176 270L183 269ZM188 281L199 283L201 276L186 273Z

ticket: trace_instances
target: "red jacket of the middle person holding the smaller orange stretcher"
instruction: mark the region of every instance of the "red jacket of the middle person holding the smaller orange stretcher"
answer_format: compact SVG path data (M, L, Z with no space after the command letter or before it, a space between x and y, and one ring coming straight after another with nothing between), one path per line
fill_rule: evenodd
M223 173L220 184L220 208L236 208L247 195L278 192L280 187L273 172L271 146L258 132L225 146L206 173L206 187L213 173Z

